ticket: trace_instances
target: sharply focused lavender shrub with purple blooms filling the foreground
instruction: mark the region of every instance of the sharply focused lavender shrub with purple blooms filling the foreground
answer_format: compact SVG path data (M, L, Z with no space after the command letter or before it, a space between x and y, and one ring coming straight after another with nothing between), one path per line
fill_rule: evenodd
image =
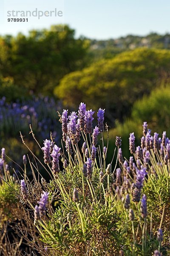
M99 109L93 128L94 111L87 111L84 103L77 113L64 110L62 146L52 137L44 140L44 163L32 152L32 180L23 157L22 179L17 176L20 188L14 189L22 220L17 233L35 255L170 253L170 140L165 132L162 138L152 136L144 122L141 145L136 147L134 133L129 137L133 156L123 158L121 138L116 137L113 158L107 163L104 113ZM109 136L107 125L106 133ZM40 164L49 182L40 174ZM0 166L6 175L4 149Z

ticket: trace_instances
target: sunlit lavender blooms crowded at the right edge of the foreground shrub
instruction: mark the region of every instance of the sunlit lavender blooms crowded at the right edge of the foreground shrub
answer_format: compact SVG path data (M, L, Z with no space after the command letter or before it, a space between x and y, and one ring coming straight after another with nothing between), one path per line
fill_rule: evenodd
M118 160L120 168L116 169L114 188L120 198L123 197L123 194L129 193L130 189L132 200L139 202L144 179L149 169L153 169L150 163L150 154L153 151L154 154L159 154L165 165L170 163L170 140L166 136L165 131L162 137L159 137L159 134L156 132L152 136L151 130L147 128L147 122L144 122L141 145L135 145L135 135L130 133L129 150L133 156L127 161L124 160L122 149L119 148ZM144 202L144 198L142 198L142 204ZM144 213L142 215L144 216Z

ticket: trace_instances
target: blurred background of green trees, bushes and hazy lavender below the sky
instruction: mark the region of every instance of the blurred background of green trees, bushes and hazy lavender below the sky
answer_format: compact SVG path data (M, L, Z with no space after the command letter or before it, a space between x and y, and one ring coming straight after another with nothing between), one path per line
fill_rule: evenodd
M170 136L170 34L98 41L76 38L69 26L53 30L0 36L0 146L7 154L18 160L14 152L24 153L20 130L37 150L29 123L40 145L51 130L59 142L56 112L77 111L80 102L106 109L111 142L121 136L126 156L129 133L139 140L144 121Z

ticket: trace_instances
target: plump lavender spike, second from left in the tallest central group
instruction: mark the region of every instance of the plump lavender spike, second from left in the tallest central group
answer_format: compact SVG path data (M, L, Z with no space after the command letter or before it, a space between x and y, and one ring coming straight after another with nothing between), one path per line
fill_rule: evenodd
M77 115L73 111L70 116L68 116L69 122L68 122L68 135L71 139L71 142L75 145L77 144L77 130L76 130L76 124L77 124Z

